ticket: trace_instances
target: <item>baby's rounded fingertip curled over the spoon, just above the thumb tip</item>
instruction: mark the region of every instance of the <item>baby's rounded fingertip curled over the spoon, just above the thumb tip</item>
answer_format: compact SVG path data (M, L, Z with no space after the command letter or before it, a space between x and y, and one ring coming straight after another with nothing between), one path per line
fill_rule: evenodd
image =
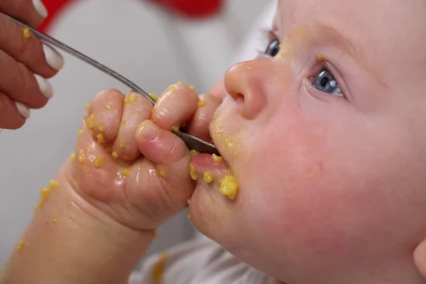
M152 120L162 129L181 126L194 114L197 103L198 96L193 87L174 84L161 94L153 109Z

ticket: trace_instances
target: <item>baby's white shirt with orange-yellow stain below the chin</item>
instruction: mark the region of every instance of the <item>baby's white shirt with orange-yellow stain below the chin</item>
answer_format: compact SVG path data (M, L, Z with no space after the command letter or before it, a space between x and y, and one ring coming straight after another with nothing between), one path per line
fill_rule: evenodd
M129 284L270 284L271 278L238 261L203 236L149 257Z

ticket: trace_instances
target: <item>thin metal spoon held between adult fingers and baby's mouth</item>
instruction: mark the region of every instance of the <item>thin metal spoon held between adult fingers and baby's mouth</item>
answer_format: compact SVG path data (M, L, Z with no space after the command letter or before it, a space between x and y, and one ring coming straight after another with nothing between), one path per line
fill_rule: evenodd
M115 72L114 70L109 69L109 67L97 62L96 60L93 60L92 58L89 58L87 55L80 53L74 48L71 48L70 46L65 45L64 43L61 43L59 40L52 38L50 35L46 35L45 33L42 33L36 30L35 28L31 28L31 26L28 26L25 23L22 23L21 21L16 20L16 18L12 18L10 16L9 18L11 18L13 21L16 21L16 23L23 26L24 28L28 28L35 36L40 38L40 40L44 40L46 43L49 43L55 46L56 48L59 48L60 50L65 51L65 53L68 53L74 56L75 58L79 58L80 60L86 62L89 65L92 65L93 67L113 77L114 79L119 80L119 82L133 89L134 92L143 95L143 97L146 97L148 101L150 101L152 104L155 104L155 100L151 98L147 92L145 92L143 89L138 87L135 83L131 82L126 77L123 77L122 75ZM219 152L217 151L216 146L214 146L212 143L208 143L206 141L203 141L200 138L197 138L195 136L192 136L182 131L173 131L173 132L185 142L186 146L190 150L195 150L199 153L209 153L209 154L214 153L219 155Z

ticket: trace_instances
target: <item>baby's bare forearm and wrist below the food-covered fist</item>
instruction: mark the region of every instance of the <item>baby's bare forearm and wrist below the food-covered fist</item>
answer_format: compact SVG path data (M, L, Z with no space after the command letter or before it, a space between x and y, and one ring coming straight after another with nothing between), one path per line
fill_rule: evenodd
M124 226L85 202L63 173L21 237L5 271L9 283L126 283L153 231ZM23 275L19 271L26 271ZM94 281L96 277L96 281ZM113 280L113 281L111 281Z

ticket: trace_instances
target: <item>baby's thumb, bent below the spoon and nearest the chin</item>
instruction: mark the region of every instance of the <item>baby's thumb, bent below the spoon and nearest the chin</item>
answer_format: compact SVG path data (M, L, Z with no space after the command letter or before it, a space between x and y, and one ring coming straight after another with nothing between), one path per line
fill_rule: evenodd
M185 143L150 120L138 127L136 141L141 153L155 164L170 206L184 208L194 187L189 173L191 155Z

